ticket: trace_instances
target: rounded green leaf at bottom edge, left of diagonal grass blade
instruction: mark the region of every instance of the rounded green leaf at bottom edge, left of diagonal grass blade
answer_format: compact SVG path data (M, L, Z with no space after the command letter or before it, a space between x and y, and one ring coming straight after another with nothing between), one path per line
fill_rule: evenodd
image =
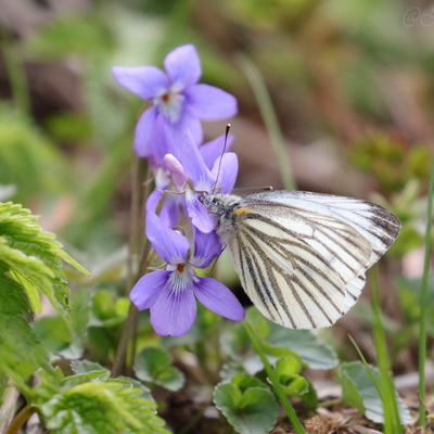
M242 392L235 384L220 383L214 391L214 403L241 434L269 433L279 416L279 406L265 387L248 387Z

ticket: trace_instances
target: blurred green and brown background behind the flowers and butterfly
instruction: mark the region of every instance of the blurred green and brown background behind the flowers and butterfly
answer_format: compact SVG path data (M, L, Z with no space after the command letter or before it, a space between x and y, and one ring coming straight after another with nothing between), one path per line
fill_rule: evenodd
M433 8L393 0L0 0L0 197L40 214L43 228L92 270L87 284L118 282L142 101L115 84L111 67L162 66L171 49L193 43L202 81L239 101L230 119L238 186L282 187L240 66L247 56L269 91L297 188L391 208L404 229L385 288L396 276L420 277L434 138ZM225 126L206 123L206 138ZM232 279L225 258L217 271ZM404 297L417 296L411 282L401 280ZM399 315L410 323L418 317L405 308Z

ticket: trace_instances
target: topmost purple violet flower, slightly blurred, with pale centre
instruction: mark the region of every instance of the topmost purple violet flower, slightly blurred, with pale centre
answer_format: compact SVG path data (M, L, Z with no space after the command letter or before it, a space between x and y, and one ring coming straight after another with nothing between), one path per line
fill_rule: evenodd
M140 117L135 133L133 148L139 156L153 154L154 128L167 136L171 149L177 138L189 129L196 143L203 140L200 119L217 120L237 113L237 100L214 86L197 85L202 75L201 62L191 44L178 47L164 60L166 73L155 66L114 66L116 81L146 101L152 101ZM161 125L155 120L162 116ZM173 151L167 151L174 153Z

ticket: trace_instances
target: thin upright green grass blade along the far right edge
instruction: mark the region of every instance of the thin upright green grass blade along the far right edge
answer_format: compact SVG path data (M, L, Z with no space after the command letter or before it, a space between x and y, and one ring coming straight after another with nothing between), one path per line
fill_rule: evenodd
M426 207L426 229L425 229L425 257L423 261L422 288L421 288L421 319L419 330L419 425L426 424L426 410L423 406L425 400L425 360L426 360L426 312L427 312L427 281L430 271L431 253L431 227L433 218L433 194L434 194L434 158L431 166L430 187L427 193Z

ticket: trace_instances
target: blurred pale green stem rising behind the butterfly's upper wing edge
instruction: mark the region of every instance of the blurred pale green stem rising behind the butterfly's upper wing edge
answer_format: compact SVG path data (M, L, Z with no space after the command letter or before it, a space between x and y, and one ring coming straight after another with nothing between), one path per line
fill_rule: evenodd
M263 115L268 135L270 136L283 187L288 190L294 190L295 182L291 170L288 150L267 87L258 68L246 55L239 54L237 60L251 85L253 93L255 94L260 114Z

